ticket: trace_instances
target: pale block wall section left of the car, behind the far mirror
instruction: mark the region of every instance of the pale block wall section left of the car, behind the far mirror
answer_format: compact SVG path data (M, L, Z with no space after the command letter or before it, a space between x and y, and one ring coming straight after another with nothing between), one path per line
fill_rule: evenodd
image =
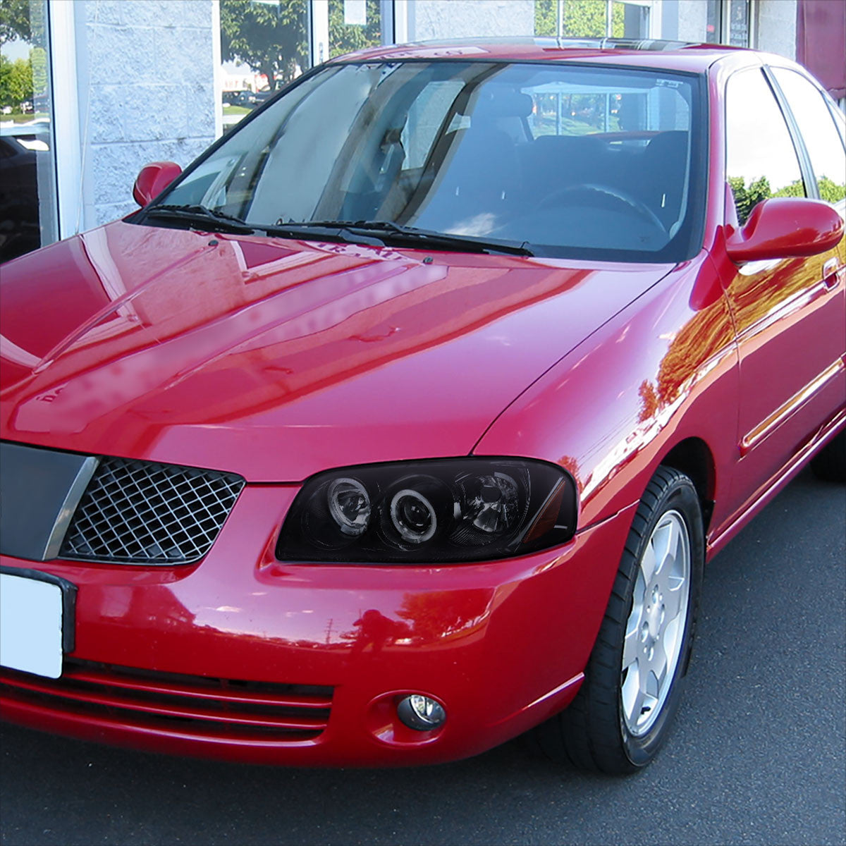
M146 162L184 167L214 140L219 36L212 0L77 0L74 11L85 229L137 208Z

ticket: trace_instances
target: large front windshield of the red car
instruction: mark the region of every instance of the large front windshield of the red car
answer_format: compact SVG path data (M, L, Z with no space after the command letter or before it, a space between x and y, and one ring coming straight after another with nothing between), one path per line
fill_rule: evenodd
M254 228L391 222L536 255L680 261L705 194L695 124L695 77L662 70L339 63L257 113L162 203Z

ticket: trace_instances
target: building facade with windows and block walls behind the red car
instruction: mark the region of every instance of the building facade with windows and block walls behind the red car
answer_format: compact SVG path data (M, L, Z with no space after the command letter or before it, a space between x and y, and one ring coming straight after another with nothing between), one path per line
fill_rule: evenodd
M838 0L3 0L0 259L133 211L132 184L146 162L184 167L268 90L351 49L470 36L710 41L807 59L843 98L843 6ZM833 55L814 49L826 37ZM823 52L821 73L814 62ZM23 80L17 88L8 83L13 77Z

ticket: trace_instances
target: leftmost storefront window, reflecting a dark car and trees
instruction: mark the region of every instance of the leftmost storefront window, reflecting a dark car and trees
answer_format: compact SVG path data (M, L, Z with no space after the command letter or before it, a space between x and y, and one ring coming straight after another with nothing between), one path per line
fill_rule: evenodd
M0 3L0 262L58 239L46 0Z

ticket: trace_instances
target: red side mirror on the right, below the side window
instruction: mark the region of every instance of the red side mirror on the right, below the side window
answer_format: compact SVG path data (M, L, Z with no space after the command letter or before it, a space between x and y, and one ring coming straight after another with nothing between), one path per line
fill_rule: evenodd
M726 239L735 262L798 258L831 250L843 238L843 217L832 206L804 197L758 203L743 227Z

